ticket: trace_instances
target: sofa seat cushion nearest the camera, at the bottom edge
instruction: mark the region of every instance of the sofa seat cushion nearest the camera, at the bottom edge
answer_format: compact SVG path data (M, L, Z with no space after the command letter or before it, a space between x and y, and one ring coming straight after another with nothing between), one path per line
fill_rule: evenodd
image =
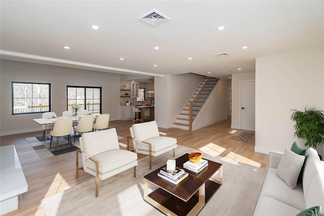
M286 185L286 188L288 186ZM296 215L300 212L290 205L266 196L260 196L253 215Z

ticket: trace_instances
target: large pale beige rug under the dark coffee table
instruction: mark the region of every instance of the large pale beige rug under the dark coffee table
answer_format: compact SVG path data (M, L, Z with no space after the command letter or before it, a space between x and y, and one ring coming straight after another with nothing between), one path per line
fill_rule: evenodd
M178 145L175 158L191 152L197 150ZM164 215L143 200L143 177L165 165L168 159L175 158L172 151L153 157L151 170L147 156L139 159L136 178L133 178L131 168L100 181L97 198L93 178L47 197L41 200L41 203L47 215ZM266 169L204 152L203 158L223 164L223 184L198 215L252 215ZM150 191L156 189L153 184L149 183L148 186Z

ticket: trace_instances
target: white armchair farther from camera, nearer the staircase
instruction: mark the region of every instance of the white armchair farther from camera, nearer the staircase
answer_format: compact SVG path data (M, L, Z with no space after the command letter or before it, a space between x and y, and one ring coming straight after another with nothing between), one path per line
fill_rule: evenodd
M156 121L148 121L144 123L133 124L130 127L131 137L127 138L133 141L136 153L149 155L150 169L152 168L152 157L177 148L177 139L175 136L158 131ZM160 136L163 135L163 136Z

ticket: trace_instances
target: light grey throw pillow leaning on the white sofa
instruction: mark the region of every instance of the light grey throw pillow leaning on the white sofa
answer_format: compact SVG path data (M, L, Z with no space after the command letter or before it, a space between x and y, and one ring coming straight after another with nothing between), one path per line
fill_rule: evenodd
M298 176L304 164L304 155L296 154L287 147L284 155L279 162L275 174L291 188L294 189L297 185Z

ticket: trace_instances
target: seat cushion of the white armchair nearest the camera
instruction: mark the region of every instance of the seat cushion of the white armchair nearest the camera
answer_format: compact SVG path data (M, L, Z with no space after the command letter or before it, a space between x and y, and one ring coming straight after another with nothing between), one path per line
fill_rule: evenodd
M105 174L119 167L125 166L137 160L137 154L131 151L115 149L92 156L99 162L99 172ZM84 166L96 170L96 164L90 159L84 161Z

